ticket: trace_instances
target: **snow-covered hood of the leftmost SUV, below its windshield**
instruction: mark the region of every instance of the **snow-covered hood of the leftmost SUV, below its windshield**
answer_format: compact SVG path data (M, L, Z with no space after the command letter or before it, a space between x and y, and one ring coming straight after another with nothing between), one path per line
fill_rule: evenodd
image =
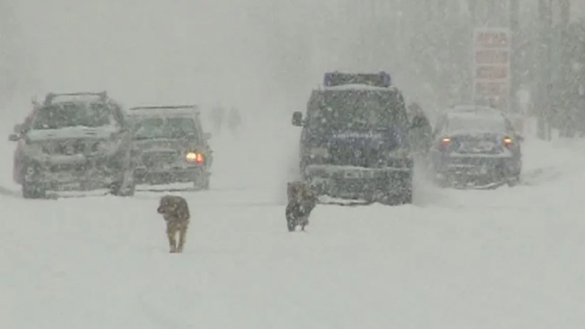
M61 129L29 130L26 138L30 141L64 140L77 138L108 139L118 132L116 127L66 127Z

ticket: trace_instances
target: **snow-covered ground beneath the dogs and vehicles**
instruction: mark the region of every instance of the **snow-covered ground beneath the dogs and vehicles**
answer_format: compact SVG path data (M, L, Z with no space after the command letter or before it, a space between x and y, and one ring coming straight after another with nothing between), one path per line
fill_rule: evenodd
M585 327L582 141L528 138L515 188L419 183L415 205L319 206L291 234L298 130L272 126L214 137L212 191L179 192L183 254L167 252L160 193L23 200L5 157L0 327Z

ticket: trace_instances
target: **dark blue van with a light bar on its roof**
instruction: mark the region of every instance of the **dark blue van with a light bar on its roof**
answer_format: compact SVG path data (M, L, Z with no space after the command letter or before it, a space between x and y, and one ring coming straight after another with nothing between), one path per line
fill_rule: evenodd
M320 195L412 202L410 123L390 75L326 73L292 124L302 127L301 175Z

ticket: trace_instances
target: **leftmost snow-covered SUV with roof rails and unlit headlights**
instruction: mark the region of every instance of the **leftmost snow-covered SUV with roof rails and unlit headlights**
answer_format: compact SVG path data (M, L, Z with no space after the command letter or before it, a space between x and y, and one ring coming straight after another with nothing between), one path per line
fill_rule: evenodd
M130 129L121 105L101 93L49 93L18 141L15 172L24 198L47 191L134 193Z

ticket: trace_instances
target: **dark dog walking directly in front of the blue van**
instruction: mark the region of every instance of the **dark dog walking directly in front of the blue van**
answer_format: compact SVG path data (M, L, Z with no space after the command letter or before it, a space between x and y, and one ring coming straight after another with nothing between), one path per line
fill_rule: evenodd
M296 181L287 184L288 205L285 210L289 232L294 232L297 226L305 230L309 224L309 216L317 205L317 196L306 182Z

